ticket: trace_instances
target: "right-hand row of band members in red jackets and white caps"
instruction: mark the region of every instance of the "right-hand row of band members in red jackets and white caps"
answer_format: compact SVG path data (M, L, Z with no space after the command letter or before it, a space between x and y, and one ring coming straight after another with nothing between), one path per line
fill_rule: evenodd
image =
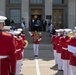
M76 29L58 29L52 36L55 64L63 75L76 75Z

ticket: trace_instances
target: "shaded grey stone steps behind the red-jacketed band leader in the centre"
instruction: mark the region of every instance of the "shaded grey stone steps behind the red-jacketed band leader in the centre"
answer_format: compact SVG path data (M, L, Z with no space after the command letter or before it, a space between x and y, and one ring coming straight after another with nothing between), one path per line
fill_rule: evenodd
M28 32L28 30L25 31L25 36L29 43L25 50L33 50L33 40ZM49 32L41 32L41 34L42 40L40 41L39 50L52 50L51 37Z

